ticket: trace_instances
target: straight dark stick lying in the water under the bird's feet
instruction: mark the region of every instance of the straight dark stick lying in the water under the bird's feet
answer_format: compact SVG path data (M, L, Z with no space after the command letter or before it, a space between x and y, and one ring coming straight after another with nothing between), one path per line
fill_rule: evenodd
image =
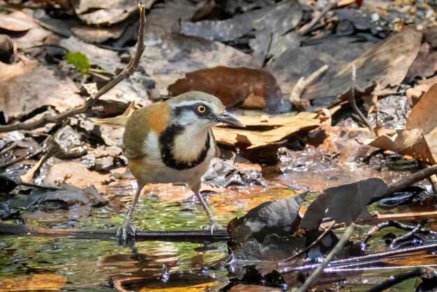
M51 237L73 237L79 239L114 239L114 231L75 231L71 229L40 228L31 226L21 226L14 224L0 224L0 235L19 235L19 236L51 236ZM225 230L211 231L136 231L135 241L163 240L172 242L218 242L230 240L228 232Z

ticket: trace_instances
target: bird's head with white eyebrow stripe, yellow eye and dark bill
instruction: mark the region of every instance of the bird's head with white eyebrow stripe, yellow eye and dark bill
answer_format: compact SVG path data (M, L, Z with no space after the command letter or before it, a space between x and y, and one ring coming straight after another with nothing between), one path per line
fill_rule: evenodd
M187 92L168 100L171 123L177 126L210 129L215 124L244 126L243 122L225 110L221 101L204 92Z

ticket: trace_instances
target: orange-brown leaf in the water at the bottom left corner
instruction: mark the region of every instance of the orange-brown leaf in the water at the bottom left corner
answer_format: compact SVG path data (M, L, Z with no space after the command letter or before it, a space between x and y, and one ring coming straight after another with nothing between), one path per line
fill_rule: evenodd
M2 279L1 291L58 291L64 287L67 277L57 274L35 274L15 276L10 279Z

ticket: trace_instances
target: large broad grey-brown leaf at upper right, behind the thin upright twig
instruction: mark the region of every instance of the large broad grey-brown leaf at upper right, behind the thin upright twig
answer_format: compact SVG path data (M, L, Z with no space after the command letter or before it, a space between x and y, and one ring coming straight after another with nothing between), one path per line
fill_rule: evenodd
M421 41L422 33L414 29L394 34L345 66L329 67L324 78L306 87L302 98L312 100L346 94L351 85L353 64L357 67L356 85L360 90L375 86L373 94L378 96L394 93L417 57Z

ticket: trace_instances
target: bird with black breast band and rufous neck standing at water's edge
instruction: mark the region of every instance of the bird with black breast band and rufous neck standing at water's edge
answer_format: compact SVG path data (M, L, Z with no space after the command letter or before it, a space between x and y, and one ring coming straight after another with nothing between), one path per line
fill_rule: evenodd
M122 149L136 179L137 190L126 219L117 230L119 245L133 247L135 244L132 219L146 184L187 184L207 214L208 228L221 229L200 195L201 177L209 162L219 154L212 133L212 126L219 123L244 126L216 96L204 92L186 92L139 108L128 117Z

